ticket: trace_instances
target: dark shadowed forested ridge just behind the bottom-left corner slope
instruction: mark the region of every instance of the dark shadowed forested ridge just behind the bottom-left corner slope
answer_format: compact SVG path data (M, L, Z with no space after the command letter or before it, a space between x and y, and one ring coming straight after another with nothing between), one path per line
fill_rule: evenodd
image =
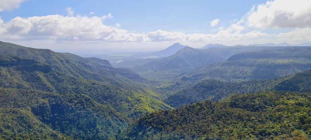
M9 88L0 88L0 93L0 108L25 110L35 118L28 120L29 124L41 121L40 127L60 131L74 138L107 139L129 122L128 118L113 108L98 104L83 94L59 95ZM14 121L14 118L10 121ZM35 132L31 133L35 135Z

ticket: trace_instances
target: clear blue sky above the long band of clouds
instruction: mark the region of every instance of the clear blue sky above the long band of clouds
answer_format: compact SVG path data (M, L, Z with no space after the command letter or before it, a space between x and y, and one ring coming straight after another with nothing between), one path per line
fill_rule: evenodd
M16 16L67 16L67 7L82 16L103 16L111 13L114 18L106 25L121 24L122 29L137 33L155 30L183 31L184 33L211 33L215 27L228 26L229 21L239 19L253 5L266 1L76 1L76 0L29 0L21 3L19 9L4 11L2 20L8 22ZM243 5L243 6L241 6ZM90 15L90 12L94 12ZM220 19L219 25L210 27L209 22Z

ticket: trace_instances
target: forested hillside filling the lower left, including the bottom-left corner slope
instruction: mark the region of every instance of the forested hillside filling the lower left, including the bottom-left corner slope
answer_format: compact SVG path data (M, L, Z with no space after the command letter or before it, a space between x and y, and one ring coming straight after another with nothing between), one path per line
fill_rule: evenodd
M58 139L63 133L76 139L107 139L130 121L86 95L11 88L0 88L0 93L0 119L5 120L0 129L6 133L2 138Z

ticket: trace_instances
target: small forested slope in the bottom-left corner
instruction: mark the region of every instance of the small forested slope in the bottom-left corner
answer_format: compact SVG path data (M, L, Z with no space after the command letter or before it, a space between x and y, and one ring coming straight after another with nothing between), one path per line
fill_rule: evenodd
M73 139L52 130L28 110L0 107L0 139Z

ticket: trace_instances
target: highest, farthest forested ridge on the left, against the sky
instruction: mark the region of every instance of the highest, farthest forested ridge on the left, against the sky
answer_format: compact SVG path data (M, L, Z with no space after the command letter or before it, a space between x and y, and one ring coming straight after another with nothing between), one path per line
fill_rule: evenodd
M99 58L82 58L74 54L57 53L49 49L34 49L1 41L0 54L34 59L38 62L47 63L53 69L67 75L105 82L123 88L135 84L144 86L137 81L132 83L131 79L118 74L108 61ZM143 82L147 82L146 79Z

